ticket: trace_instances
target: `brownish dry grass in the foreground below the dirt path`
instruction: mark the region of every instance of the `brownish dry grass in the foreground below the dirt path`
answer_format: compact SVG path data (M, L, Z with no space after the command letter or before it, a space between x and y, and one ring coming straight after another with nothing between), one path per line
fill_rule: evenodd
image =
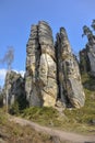
M29 125L21 127L9 121L9 118L10 116L0 109L0 141L7 141L7 143L52 143L50 135L39 133Z

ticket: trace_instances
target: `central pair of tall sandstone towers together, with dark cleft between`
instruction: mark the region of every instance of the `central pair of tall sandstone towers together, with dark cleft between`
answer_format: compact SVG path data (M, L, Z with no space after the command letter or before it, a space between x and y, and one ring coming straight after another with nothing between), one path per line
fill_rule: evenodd
M79 65L63 28L54 46L47 22L32 25L26 52L25 91L29 106L84 106Z

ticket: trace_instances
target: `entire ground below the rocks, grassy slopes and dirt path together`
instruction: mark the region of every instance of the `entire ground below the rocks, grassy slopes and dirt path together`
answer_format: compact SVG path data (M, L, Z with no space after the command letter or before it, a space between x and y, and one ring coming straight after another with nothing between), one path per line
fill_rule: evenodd
M32 107L17 117L0 109L0 143L95 143L95 78L83 75L82 82L81 109Z

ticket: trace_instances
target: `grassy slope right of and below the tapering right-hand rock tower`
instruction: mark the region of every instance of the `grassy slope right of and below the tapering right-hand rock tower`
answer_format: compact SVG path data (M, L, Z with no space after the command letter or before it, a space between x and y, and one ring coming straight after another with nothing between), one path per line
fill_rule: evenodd
M78 131L95 133L95 78L82 75L85 91L85 106L81 109L66 109L68 120L76 127Z

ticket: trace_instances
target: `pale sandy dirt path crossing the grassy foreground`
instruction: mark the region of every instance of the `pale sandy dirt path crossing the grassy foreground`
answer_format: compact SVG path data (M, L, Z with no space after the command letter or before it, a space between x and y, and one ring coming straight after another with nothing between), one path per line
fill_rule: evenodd
M10 117L10 121L16 122L21 125L31 125L33 129L35 129L38 132L44 132L47 134L50 134L52 136L58 136L61 141L67 141L71 143L95 143L95 136L94 135L80 135L71 132L64 132L61 130L55 130L47 127L41 127L37 123L34 123L32 121L16 118L16 117Z

